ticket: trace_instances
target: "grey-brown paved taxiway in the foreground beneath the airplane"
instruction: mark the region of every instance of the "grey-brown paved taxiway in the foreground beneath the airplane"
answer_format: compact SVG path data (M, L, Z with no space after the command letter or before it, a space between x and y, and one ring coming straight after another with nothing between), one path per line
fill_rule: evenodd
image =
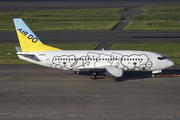
M39 66L0 66L0 76L0 119L180 118L179 77L91 80Z

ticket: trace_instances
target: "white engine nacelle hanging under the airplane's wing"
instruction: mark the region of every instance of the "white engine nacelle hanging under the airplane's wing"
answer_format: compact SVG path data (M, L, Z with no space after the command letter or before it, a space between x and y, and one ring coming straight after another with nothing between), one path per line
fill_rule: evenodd
M106 68L106 77L122 77L124 70L122 68Z

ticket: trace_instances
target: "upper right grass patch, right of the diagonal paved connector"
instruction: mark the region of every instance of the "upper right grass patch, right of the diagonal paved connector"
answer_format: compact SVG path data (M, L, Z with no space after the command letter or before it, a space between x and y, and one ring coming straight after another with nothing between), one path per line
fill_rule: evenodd
M180 6L144 6L124 30L180 30Z

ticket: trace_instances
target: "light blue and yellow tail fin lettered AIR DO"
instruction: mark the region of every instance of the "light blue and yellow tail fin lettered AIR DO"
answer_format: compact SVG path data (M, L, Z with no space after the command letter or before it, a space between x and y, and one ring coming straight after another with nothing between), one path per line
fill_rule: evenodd
M61 50L44 45L22 19L14 18L13 20L22 52Z

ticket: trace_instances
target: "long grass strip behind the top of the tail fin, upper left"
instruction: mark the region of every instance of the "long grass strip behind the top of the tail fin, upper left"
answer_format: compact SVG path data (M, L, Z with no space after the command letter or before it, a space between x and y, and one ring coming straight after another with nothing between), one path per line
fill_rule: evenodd
M116 12L123 10L126 8L1 12L0 30L14 30L13 18L22 18L35 31L110 30L122 19Z

